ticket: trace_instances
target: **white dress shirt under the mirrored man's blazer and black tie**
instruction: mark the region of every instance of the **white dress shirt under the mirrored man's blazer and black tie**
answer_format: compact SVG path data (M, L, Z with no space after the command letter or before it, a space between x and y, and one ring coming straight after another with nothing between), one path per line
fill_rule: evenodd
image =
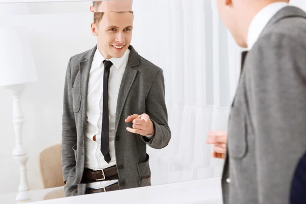
M116 165L115 155L115 118L116 106L119 88L123 73L129 59L130 49L127 49L121 58L111 58L113 65L110 68L109 77L109 149L111 161L108 164L104 160L101 153L101 128L102 128L102 114L103 114L103 74L105 58L96 49L89 72L88 94L87 94L87 112L86 112L86 139L85 139L85 168L89 169L105 169ZM93 137L95 140L93 140ZM100 181L87 184L87 188L102 188L118 182Z

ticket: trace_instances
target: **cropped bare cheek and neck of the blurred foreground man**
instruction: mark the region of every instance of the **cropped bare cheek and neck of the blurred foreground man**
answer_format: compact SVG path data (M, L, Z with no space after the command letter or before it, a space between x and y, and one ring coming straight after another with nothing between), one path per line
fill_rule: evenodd
M289 0L216 0L220 17L237 44L247 47L247 32L253 17L265 6Z

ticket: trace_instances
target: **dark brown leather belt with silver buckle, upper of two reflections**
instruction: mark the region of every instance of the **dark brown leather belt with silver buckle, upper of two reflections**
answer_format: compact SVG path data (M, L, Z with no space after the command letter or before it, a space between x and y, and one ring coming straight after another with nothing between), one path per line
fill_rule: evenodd
M82 184L89 184L98 181L111 181L119 179L117 165L106 169L84 169Z

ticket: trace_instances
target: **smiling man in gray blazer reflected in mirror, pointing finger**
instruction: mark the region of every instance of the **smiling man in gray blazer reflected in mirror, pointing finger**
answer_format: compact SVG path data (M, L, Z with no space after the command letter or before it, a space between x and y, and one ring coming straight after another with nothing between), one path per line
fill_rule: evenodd
M70 58L64 88L65 195L150 186L146 145L171 132L161 68L130 45L133 12L94 13L97 46Z

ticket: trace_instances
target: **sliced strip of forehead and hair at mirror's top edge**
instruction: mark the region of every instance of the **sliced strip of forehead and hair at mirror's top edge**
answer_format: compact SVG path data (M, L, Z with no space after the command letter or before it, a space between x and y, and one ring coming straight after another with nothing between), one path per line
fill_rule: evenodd
M90 12L132 11L132 0L93 1Z

